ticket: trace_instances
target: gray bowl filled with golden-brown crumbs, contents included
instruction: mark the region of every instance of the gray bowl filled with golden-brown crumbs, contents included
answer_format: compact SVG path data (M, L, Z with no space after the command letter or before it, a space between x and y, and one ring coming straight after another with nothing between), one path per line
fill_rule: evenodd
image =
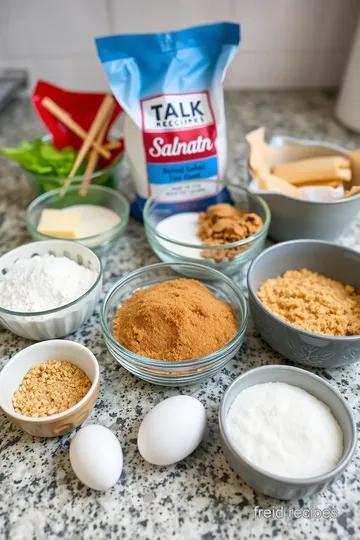
M360 253L283 242L252 262L248 289L258 332L289 360L318 368L360 360Z

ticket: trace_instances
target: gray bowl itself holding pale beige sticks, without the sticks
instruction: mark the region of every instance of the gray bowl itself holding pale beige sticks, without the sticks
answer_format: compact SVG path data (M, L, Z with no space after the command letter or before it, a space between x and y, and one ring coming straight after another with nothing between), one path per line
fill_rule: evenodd
M313 157L314 154L348 154L346 148L321 141L283 136L273 137L270 141L272 146L283 146L287 143L296 145L296 159ZM305 149L304 145L310 146L311 150ZM254 176L249 167L248 173L251 182ZM271 210L269 236L278 242L297 238L335 240L349 228L360 211L360 194L331 202L305 201L275 191L259 191L256 194L261 195Z

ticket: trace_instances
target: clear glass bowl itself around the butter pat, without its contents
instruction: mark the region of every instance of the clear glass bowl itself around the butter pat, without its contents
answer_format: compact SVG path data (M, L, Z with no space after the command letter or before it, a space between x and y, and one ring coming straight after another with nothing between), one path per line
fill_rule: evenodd
M104 186L88 186L87 194L80 195L80 186L70 186L64 195L62 189L54 189L37 197L26 210L26 227L34 240L54 240L53 236L38 232L37 226L41 212L46 208L67 208L73 205L93 204L113 210L121 221L108 231L86 238L68 239L69 242L78 242L90 248L99 257L106 255L119 242L120 237L126 231L130 206L121 193ZM58 238L57 238L58 239Z

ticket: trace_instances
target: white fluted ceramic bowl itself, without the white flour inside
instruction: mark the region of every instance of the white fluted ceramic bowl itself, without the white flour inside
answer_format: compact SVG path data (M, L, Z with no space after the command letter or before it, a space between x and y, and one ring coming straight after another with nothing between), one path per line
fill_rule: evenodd
M45 253L57 257L68 257L94 270L97 278L83 295L58 308L24 313L0 306L0 324L18 336L36 341L63 337L75 332L94 311L102 290L103 276L100 259L87 247L67 240L32 242L9 251L0 257L0 280L18 259L28 259Z

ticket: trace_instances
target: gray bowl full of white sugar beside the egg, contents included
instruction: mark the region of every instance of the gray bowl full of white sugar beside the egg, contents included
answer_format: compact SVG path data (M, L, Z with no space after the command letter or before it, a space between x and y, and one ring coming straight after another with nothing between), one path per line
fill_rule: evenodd
M247 371L220 405L225 456L255 491L300 499L326 489L356 450L356 424L341 394L289 366Z

